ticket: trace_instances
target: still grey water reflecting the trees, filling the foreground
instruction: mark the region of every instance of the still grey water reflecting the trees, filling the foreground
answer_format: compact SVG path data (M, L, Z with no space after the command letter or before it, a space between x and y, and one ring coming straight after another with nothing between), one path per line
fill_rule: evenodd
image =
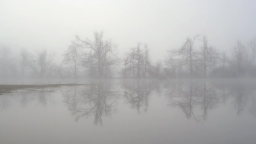
M0 144L256 144L251 80L98 80L0 93Z

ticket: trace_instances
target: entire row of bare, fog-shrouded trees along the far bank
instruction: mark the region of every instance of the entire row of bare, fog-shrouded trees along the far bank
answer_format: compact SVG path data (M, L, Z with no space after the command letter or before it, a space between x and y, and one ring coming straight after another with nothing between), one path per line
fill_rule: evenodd
M153 62L147 44L138 43L123 58L117 44L94 32L93 40L78 35L64 51L61 64L55 52L35 53L23 48L18 56L6 46L0 48L0 77L255 77L256 39L240 41L229 53L209 44L205 35L187 37L179 48L167 50L163 61Z

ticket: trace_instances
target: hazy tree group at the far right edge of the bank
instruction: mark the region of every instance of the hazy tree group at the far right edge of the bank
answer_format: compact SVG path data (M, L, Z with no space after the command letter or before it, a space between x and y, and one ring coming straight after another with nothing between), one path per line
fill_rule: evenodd
M216 69L213 69L212 77L255 77L256 76L256 39L251 40L248 45L240 41L232 49L231 57L223 54Z

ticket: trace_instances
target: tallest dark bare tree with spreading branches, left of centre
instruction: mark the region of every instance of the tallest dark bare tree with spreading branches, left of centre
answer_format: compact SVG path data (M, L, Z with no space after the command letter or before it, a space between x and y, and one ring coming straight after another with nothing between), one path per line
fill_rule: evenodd
M79 36L76 36L76 40L80 43L81 47L88 50L87 64L97 66L89 67L89 69L96 69L98 77L109 77L112 69L119 62L115 51L116 45L111 40L103 40L103 32L94 32L93 41L88 38L81 40Z

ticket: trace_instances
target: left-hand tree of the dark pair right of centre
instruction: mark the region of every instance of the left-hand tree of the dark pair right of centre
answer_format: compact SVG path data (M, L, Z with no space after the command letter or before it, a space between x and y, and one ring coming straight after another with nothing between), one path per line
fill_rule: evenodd
M189 75L192 77L194 74L194 63L195 63L195 57L197 55L197 52L194 49L194 43L195 40L197 40L199 35L195 35L194 37L187 37L186 42L182 45L181 48L178 48L173 51L174 54L181 56L181 59L179 59L180 66L188 66L189 68Z

